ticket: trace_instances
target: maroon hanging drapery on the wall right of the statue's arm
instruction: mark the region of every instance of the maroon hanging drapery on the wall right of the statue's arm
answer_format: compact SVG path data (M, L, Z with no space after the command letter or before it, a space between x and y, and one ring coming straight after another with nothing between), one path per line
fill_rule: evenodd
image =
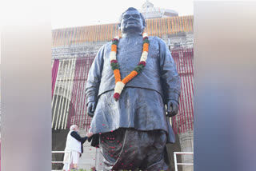
M194 129L194 51L190 49L171 50L178 74L182 80L178 114L172 117L174 133L185 133Z

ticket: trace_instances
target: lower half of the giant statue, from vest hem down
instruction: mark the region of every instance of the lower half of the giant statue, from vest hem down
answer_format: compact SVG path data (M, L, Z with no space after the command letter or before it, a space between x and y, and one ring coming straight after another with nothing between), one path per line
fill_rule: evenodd
M134 87L125 87L118 101L113 94L111 90L98 98L90 125L94 137L100 137L93 146L100 145L104 170L166 170L163 153L174 133L161 94Z

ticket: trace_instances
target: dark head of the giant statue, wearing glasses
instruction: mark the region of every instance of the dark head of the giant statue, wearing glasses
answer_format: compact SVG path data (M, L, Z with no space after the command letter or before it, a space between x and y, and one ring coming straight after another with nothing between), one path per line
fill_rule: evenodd
M146 22L143 15L137 9L130 7L124 13L122 13L119 19L118 27L123 34L142 34L146 27Z

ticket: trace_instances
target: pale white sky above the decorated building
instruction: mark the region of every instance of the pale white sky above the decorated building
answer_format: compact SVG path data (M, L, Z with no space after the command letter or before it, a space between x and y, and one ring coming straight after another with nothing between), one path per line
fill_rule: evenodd
M52 29L116 23L129 7L140 9L146 0L54 0ZM150 0L154 7L175 10L179 16L193 14L193 0Z

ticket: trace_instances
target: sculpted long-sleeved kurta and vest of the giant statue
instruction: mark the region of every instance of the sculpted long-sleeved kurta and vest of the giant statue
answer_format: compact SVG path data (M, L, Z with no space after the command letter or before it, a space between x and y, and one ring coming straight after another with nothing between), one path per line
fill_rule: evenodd
M87 102L98 101L90 125L92 133L106 133L118 128L162 129L168 133L165 104L178 101L181 81L166 43L149 37L145 69L128 82L118 101L114 101L114 74L110 66L111 42L98 51L86 84ZM117 60L121 78L140 61L142 35L127 36L118 42Z

